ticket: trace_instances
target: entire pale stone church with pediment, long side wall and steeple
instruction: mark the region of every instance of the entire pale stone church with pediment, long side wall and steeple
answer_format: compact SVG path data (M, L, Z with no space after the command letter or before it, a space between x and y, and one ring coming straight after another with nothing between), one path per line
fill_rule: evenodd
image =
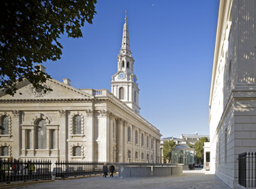
M111 93L76 89L67 78L46 80L46 93L27 80L14 96L1 92L0 158L159 162L161 134L139 115L133 65L125 19Z

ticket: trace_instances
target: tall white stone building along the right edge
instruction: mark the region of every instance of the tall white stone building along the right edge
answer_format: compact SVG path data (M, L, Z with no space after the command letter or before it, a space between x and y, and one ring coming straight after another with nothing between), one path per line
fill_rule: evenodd
M238 182L238 154L256 151L256 2L220 0L210 89L210 171Z

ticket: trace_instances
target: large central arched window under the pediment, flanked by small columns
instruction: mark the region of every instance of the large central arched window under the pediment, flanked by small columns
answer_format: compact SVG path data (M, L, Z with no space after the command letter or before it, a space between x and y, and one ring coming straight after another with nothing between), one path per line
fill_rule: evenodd
M46 121L40 119L36 127L36 149L46 149Z

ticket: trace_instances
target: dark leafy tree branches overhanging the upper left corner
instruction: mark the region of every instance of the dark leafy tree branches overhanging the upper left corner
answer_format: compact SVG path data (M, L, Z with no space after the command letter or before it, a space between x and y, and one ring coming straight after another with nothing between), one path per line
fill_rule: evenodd
M0 88L14 95L17 81L43 86L50 75L35 63L56 61L62 55L59 36L82 36L85 21L92 24L96 0L0 1Z

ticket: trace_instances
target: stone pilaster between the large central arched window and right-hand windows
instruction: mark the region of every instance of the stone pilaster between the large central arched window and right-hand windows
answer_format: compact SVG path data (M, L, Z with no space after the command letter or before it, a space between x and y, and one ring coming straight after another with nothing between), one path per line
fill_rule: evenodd
M66 110L60 109L59 110L59 146L56 146L59 150L59 157L58 159L61 161L68 160L68 144L67 139L69 136L68 131L68 124L66 122L66 116L68 112Z

